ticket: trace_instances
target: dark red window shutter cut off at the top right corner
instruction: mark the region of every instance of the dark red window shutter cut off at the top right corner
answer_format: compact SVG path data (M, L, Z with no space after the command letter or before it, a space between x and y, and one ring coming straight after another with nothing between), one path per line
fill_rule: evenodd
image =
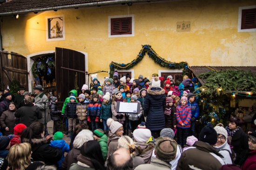
M256 28L256 8L242 10L241 29Z

